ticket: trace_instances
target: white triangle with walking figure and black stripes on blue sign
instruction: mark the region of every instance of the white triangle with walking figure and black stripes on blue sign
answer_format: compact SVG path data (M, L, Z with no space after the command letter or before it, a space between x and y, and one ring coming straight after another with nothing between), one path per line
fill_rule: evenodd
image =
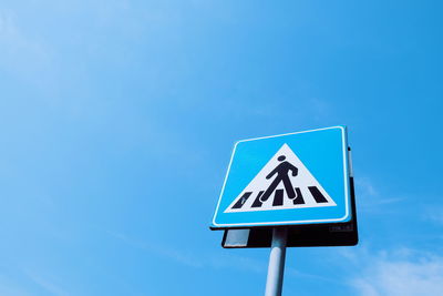
M225 213L336 205L300 159L284 144Z

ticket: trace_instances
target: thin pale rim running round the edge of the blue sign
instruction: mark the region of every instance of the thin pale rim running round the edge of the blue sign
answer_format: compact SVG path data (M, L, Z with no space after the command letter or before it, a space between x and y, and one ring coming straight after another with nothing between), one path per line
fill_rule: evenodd
M302 134L302 133L310 133L310 132L318 132L318 131L324 131L324 130L332 130L332 129L340 129L341 131L341 136L342 136L342 156L343 156L343 182L344 182L344 216L340 218L324 218L324 220L302 220L302 221L280 221L280 222L255 222L255 223L234 223L234 224L217 224L216 218L217 214L219 211L222 197L225 192L225 186L229 176L230 167L233 164L234 155L236 153L237 145L243 142L249 142L249 141L257 141L257 140L264 140L264 139L270 139L270 137L278 137L278 136L286 136L286 135L293 135L293 134ZM217 206L214 213L214 217L212 221L212 226L210 228L213 229L226 229L226 228L247 228L247 227L255 227L255 226L278 226L278 225L306 225L306 224L320 224L320 223L344 223L349 222L351 220L351 213L350 213L350 185L349 185L349 157L348 157L348 139L347 139L347 129L346 126L342 125L337 125L337 126L330 126L330 127L324 127L324 129L316 129L316 130L309 130L309 131L302 131L302 132L295 132L295 133L286 133L286 134L278 134L278 135L270 135L270 136L261 136L261 137L255 137L255 139L247 139L247 140L240 140L236 142L234 145L234 150L230 156L228 170L225 176L225 181L222 187L220 195L218 197Z

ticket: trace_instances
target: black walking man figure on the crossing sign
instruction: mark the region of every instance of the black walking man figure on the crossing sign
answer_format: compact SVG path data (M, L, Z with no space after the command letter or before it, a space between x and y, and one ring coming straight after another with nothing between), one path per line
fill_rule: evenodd
M292 184L289 180L289 171L292 172L292 176L297 176L298 174L298 169L293 166L291 163L285 161L286 156L280 155L277 159L280 163L277 165L276 169L274 169L267 176L266 178L271 178L275 174L277 174L276 178L272 181L272 183L269 185L269 187L266 190L266 192L260 196L260 202L264 203L266 202L269 196L274 193L274 191L277 188L278 184L280 182L284 183L286 194L290 200L296 197L296 192L293 191Z

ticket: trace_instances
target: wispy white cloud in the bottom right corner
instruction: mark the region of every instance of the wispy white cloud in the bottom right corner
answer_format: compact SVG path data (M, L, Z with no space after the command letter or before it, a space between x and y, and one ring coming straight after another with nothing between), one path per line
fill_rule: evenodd
M440 295L443 290L443 257L409 248L380 252L344 252L360 267L348 284L359 295ZM357 269L357 268L356 268Z

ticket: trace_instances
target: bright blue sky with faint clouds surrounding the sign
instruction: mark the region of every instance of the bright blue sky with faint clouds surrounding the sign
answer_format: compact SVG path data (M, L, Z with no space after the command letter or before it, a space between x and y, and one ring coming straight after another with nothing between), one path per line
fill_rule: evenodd
M285 295L443 290L440 1L2 1L0 295L261 295L208 229L235 141L344 124L360 244Z

